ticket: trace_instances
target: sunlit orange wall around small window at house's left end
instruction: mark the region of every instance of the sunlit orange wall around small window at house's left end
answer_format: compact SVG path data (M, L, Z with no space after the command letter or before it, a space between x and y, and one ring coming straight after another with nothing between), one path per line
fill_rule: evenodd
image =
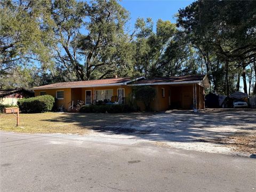
M41 91L45 91L46 94L52 95L52 97L56 98L57 91L64 91L64 99L57 100L57 107L63 105L65 110L68 110L68 103L71 101L71 89L45 89L45 90L35 90L35 96L39 96Z

